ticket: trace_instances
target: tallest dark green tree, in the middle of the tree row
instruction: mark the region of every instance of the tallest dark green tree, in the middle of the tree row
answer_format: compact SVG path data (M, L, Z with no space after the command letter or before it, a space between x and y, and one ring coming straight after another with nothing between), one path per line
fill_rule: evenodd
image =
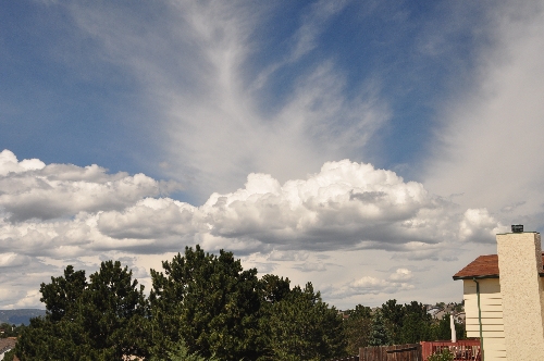
M181 339L191 353L221 360L256 360L260 354L260 295L257 270L244 271L233 253L187 247L164 273L151 270L152 353Z

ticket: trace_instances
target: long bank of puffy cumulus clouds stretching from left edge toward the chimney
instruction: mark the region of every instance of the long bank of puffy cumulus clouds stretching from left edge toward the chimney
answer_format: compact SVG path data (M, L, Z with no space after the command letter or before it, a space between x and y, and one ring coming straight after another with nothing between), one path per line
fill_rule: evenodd
M115 249L161 253L201 244L264 252L274 262L302 261L311 271L322 266L308 260L308 251L355 247L444 258L448 244L489 241L500 229L486 210L459 213L420 183L349 160L326 162L319 173L283 185L254 173L244 188L212 194L199 207L150 198L160 194L157 180L109 175L98 166L44 165L8 173L0 182L11 185L0 196L7 212L0 252L58 259ZM48 220L59 215L66 217Z

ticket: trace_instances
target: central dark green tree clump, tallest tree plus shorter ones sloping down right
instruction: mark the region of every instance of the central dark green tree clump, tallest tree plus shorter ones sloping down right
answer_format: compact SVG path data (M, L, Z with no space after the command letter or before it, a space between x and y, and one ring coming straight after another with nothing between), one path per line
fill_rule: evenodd
M344 352L342 320L311 284L244 271L231 252L186 248L164 272L151 270L151 353L187 352L221 360L321 360Z

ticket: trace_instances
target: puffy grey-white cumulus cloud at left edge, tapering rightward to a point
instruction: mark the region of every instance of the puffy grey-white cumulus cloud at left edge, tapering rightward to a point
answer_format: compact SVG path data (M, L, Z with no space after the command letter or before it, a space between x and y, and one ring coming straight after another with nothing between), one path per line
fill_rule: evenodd
M9 150L0 153L0 210L10 220L50 220L77 212L124 209L164 187L144 174L107 174L96 164L46 165L37 159L17 161Z

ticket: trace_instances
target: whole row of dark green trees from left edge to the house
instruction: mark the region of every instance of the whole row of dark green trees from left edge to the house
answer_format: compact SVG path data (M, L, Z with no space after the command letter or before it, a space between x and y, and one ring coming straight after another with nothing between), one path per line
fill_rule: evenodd
M162 266L151 270L145 297L120 262L102 262L88 279L69 265L41 284L47 314L30 320L11 353L22 361L330 360L369 345L449 338L449 320L433 324L421 303L390 300L344 316L311 283L259 279L231 252L196 246Z

